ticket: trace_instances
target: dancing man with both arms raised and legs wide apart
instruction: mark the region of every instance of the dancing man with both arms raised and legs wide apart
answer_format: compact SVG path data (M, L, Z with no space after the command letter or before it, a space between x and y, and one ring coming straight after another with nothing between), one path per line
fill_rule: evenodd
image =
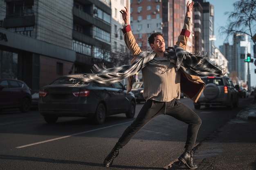
M183 49L186 49L186 42L190 34L189 25L193 5L194 2L188 2L186 5L184 27L176 43L176 45ZM127 8L125 7L125 9L122 9L120 12L125 24L122 29L124 32L124 40L130 52L134 56L132 60L132 62L134 62L141 54L141 49L135 42L135 38L132 35L128 21ZM202 121L188 106L184 105L177 99L180 98L182 90L182 92L190 96L193 101L197 101L205 87L205 84L200 77L187 75L180 71L180 69L176 69L176 60L168 57L171 54L168 54L168 52L166 53L165 42L161 33L157 32L151 34L148 38L148 42L155 52L155 56L147 63L146 67L142 69L144 82L143 96L146 99L146 102L141 108L135 121L124 131L115 147L104 160L103 164L106 167L110 166L115 157L118 156L119 150L130 141L132 136L134 136L156 116L167 114L188 124L187 139L184 147L185 151L178 159L188 168L196 169L198 166L193 163L193 147ZM132 78L129 78L128 91L132 85L131 79Z

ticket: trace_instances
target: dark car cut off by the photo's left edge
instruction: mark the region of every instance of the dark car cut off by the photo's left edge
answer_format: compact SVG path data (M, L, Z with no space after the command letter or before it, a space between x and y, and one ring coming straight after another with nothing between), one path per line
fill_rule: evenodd
M23 81L0 79L0 110L18 108L28 112L31 106L31 89Z

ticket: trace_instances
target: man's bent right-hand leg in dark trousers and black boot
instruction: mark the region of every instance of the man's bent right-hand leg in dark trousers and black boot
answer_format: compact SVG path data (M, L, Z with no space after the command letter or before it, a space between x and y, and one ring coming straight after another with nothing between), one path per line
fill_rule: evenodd
M187 105L180 101L167 103L166 114L188 124L185 152L179 157L179 160L188 168L196 169L198 166L193 163L193 147L197 138L198 130L202 123L200 117L193 112Z

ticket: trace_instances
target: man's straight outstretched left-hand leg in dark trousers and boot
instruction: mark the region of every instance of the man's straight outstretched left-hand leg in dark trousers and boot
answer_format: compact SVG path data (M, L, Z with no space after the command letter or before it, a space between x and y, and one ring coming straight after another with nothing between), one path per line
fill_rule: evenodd
M104 166L110 166L119 154L119 149L123 148L141 128L143 128L149 121L159 114L163 114L164 103L157 101L146 101L146 103L141 108L138 116L131 125L126 128L122 136L119 138L115 147L112 149L110 154L104 160Z

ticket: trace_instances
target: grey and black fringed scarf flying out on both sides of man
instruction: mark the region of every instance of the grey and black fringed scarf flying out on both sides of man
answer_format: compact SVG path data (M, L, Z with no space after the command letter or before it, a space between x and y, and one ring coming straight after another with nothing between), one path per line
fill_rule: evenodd
M209 63L209 57L203 56L202 53L192 54L174 45L166 48L165 56L176 61L176 69L181 69L186 74L194 76L224 76L222 68L213 63ZM105 65L94 65L92 73L85 74L80 78L70 78L75 86L80 82L87 83L116 83L130 76L135 75L147 63L155 57L155 52L141 51L139 56L131 65L122 65L120 67L106 68Z

